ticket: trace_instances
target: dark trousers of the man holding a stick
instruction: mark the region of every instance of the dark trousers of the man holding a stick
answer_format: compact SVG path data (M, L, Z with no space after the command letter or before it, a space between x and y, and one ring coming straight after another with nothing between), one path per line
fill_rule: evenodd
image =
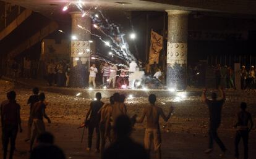
M100 130L99 126L88 126L88 147L92 148L92 137L93 137L93 131L96 131L96 149L100 149Z

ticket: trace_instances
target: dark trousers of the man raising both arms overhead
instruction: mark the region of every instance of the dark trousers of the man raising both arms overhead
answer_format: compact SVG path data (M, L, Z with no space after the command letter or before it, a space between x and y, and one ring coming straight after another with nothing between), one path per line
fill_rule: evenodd
M209 149L213 149L213 140L220 146L220 149L225 152L226 151L226 147L224 146L223 142L221 141L221 139L218 137L217 134L217 129L218 126L214 126L212 128L209 129L209 145L208 148Z

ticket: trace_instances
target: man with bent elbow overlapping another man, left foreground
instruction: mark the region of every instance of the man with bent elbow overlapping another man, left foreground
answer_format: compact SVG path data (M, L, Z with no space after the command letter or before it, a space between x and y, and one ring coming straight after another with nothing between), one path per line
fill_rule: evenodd
M46 118L48 123L51 123L51 120L45 113L45 108L47 103L45 102L45 93L41 92L38 96L39 102L36 102L32 107L31 118L33 120L33 132L30 139L30 152L33 148L33 143L35 138L45 132L45 123L43 118Z

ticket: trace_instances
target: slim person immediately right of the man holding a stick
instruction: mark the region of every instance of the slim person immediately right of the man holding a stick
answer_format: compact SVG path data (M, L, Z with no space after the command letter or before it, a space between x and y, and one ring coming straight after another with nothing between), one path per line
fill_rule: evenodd
M113 96L111 96L109 98L109 104L103 105L103 107L101 107L101 109L98 112L100 113L101 155L103 153L103 150L105 149L106 139L109 139L109 142L111 142L111 136L110 136L111 125L110 123L107 123L107 120L111 115L113 104L114 104L114 99L113 99Z

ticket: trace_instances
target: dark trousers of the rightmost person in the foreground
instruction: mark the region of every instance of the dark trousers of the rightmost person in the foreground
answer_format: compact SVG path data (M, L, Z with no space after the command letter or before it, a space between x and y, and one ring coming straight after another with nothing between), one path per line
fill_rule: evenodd
M242 137L242 140L244 141L244 159L248 158L248 138L249 138L249 131L236 131L236 137L235 137L235 157L239 157L239 149L238 145L240 142L240 139Z

